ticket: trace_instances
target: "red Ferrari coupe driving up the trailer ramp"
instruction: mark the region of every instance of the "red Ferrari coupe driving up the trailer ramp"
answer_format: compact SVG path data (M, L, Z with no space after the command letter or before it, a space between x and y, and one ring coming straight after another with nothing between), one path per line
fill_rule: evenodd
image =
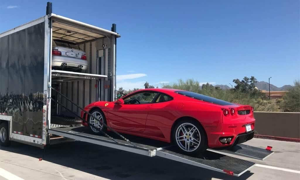
M172 142L186 154L231 147L254 135L253 107L190 91L142 89L115 102L91 103L85 110L117 132ZM107 130L84 112L81 117Z

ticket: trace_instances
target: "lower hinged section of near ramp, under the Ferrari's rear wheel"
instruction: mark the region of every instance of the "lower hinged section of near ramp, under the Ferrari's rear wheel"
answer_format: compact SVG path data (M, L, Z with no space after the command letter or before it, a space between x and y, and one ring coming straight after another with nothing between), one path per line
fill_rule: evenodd
M184 155L179 152L176 147L158 149L156 151L156 156L202 167L220 173L226 173L232 176L241 176L255 165L255 163L250 161L245 161L211 151L205 151L196 156Z

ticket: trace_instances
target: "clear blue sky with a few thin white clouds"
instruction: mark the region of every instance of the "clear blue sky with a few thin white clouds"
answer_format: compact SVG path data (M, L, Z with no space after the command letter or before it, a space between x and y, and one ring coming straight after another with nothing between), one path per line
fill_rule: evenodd
M0 32L44 16L46 2L1 0ZM280 87L300 76L298 0L52 3L61 16L117 24L118 87L188 78L228 85L251 75Z

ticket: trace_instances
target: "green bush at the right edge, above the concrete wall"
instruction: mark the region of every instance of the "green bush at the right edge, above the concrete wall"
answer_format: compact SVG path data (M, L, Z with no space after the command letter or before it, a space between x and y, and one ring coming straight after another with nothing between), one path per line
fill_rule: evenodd
M300 82L295 81L291 89L289 89L285 96L283 96L283 102L280 103L280 108L283 112L300 112Z

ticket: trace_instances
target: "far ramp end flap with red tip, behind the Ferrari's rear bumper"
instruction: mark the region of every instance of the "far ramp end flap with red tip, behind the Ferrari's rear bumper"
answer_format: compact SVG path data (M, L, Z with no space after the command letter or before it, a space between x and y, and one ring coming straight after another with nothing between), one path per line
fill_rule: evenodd
M215 149L209 149L209 151L212 152L221 152L221 153L227 153L227 154L232 154L232 155L239 155L239 156L244 156L247 158L253 158L253 159L259 159L259 160L264 160L268 156L274 153L274 151L271 151L272 147L267 147L266 149L258 148L258 147L253 147L253 146L248 146L246 144L238 144L235 145L229 149L224 149L224 150L215 150Z

